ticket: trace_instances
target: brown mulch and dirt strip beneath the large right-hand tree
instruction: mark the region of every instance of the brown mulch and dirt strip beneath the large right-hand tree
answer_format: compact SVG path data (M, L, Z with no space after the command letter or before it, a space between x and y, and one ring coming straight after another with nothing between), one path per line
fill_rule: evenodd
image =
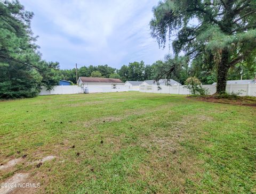
M201 100L204 102L211 103L222 103L222 104L234 104L241 106L252 106L256 107L256 98L254 97L237 97L237 98L219 98L218 96L188 96L188 98L193 98L196 100Z

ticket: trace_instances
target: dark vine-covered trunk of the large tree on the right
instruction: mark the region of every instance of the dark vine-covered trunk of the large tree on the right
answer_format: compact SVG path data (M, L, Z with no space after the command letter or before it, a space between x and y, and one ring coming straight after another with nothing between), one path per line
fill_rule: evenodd
M230 65L228 63L229 53L225 49L221 54L221 61L218 64L218 75L217 75L217 94L223 94L226 92L227 75Z

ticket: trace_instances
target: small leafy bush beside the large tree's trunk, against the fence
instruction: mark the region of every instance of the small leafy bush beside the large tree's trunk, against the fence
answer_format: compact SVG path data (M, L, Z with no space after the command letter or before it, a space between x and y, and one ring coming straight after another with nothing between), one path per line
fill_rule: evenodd
M201 81L199 81L196 77L189 77L185 81L186 88L188 88L193 95L207 95L209 94L209 90L202 87Z

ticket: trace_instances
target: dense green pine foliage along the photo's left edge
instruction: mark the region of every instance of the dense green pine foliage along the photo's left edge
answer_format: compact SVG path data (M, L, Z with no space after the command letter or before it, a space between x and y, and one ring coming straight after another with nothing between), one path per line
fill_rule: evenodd
M33 13L18 1L0 2L0 98L34 97L58 83L58 63L41 60L30 29Z

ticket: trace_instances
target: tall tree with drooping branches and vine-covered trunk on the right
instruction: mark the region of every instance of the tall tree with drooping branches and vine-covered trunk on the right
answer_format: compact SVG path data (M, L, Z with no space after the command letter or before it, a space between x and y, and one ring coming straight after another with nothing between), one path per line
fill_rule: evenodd
M231 67L242 61L255 65L255 0L165 0L154 7L150 27L162 47L175 32L175 55L204 58L201 65L214 61L218 93L225 92Z

